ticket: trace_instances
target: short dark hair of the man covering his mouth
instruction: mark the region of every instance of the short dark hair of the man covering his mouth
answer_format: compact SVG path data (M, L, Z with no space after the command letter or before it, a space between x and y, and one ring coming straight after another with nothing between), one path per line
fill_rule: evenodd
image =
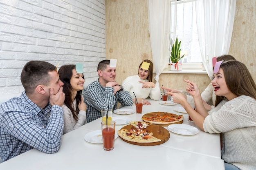
M33 94L38 85L49 85L49 72L56 70L56 66L46 61L29 61L22 69L20 80L27 94Z

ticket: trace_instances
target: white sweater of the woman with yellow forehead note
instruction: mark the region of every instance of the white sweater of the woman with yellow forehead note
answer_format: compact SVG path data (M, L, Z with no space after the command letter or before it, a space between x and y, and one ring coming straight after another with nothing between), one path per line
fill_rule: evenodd
M139 83L139 81L148 81L143 80L139 78L139 75L135 76L129 76L127 77L123 83L122 86L124 87L124 90L130 93L132 98L136 97L142 97L142 98L148 98L150 97L152 100L161 100L161 92L158 87L155 88L142 88L142 83Z

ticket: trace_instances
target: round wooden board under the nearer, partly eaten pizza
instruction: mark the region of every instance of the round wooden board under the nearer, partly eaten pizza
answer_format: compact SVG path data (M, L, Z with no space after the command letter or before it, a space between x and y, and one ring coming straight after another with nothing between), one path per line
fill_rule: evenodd
M135 129L135 127L132 126L131 124L129 124L129 125L122 127L121 129L127 129L129 131L130 129ZM140 146L153 146L153 145L163 144L164 142L168 141L168 139L170 138L169 131L167 129L163 128L162 126L158 126L156 124L152 124L152 125L148 126L145 130L147 130L148 133L152 132L153 136L157 137L158 139L161 139L161 141L153 142L153 143L137 143L137 142L130 142L128 140L121 138L120 136L119 137L124 142L127 142L129 144L134 144L134 145L140 145Z

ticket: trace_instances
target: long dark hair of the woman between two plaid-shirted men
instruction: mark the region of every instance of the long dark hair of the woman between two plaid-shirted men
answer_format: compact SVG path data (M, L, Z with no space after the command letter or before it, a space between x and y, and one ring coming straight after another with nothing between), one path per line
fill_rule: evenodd
M72 86L70 84L70 79L72 77L72 71L73 69L76 69L75 65L63 65L61 68L58 70L58 74L60 76L60 80L64 83L63 85L63 92L65 93L65 100L64 103L67 106L67 108L70 109L72 112L73 118L77 121L78 120L78 104L81 102L81 96L82 96L82 90L79 90L76 93L76 109L73 109L72 107Z

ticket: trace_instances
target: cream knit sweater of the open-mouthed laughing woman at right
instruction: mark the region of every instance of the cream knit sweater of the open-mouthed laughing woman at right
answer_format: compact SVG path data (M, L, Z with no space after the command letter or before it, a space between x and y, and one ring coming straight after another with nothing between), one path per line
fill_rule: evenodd
M223 133L222 159L241 170L256 170L256 101L239 96L209 111L204 131Z

